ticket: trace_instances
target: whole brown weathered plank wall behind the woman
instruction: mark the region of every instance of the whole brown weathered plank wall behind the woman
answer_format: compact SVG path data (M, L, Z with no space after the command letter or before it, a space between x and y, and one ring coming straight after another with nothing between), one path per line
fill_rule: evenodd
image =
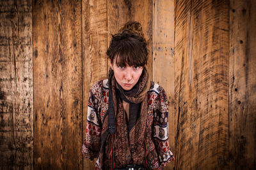
M170 101L165 169L256 167L253 0L0 3L0 169L93 169L83 159L88 90L111 34L143 25L152 80Z

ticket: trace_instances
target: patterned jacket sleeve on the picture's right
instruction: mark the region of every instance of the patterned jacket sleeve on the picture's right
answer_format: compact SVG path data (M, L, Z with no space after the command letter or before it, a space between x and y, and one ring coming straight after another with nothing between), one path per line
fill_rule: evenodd
M159 90L159 94L156 97L153 137L159 163L161 166L166 166L171 160L174 160L168 141L168 99L162 87L159 86L157 90Z

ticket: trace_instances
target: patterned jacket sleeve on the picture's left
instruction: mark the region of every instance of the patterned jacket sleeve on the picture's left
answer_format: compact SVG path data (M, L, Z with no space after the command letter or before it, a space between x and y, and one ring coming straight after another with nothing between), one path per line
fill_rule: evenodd
M99 99L90 90L86 124L86 138L83 143L82 153L87 159L98 157L100 150L101 124L98 113Z

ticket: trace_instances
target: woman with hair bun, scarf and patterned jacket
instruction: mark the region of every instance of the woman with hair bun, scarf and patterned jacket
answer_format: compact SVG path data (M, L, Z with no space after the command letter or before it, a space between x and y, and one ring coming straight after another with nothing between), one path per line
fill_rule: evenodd
M150 81L139 22L127 22L108 48L109 76L90 89L84 157L95 169L163 169L174 160L168 143L168 99Z

